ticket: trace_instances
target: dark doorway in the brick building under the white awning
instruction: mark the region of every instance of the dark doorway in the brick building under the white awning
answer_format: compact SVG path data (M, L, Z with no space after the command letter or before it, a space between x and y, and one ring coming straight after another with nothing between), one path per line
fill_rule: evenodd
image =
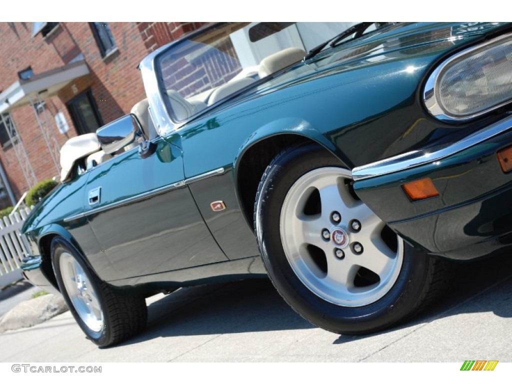
M103 125L91 90L87 90L67 103L78 134L96 132Z

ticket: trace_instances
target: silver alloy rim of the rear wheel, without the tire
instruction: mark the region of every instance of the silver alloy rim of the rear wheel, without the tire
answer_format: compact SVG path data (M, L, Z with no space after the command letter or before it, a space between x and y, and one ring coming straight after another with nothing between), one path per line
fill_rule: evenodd
M76 313L91 331L100 332L104 322L103 312L86 272L68 252L62 252L59 263L62 281Z

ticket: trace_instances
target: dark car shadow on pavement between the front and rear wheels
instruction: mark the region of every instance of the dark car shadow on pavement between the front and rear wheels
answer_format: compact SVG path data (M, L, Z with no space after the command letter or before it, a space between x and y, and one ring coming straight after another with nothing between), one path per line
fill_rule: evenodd
M314 328L268 279L182 288L147 309L145 331L123 345L156 337Z

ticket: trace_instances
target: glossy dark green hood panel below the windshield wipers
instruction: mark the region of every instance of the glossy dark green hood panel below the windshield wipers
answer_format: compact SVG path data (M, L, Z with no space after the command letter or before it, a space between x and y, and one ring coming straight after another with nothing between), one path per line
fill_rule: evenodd
M401 23L326 49L311 59L266 78L245 93L261 94L290 86L297 81L350 71L387 61L407 60L433 53L453 51L475 39L492 34L507 23Z

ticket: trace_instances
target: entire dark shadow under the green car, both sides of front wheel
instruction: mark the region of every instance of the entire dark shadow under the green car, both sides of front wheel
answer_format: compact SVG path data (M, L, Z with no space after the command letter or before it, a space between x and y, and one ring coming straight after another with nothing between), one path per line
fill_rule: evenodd
M392 330L428 324L458 313L493 311L497 316L512 317L510 271L512 258L507 254L457 263L453 266L451 289L420 315ZM183 288L163 296L148 306L145 331L122 345L158 337L311 328L314 326L284 302L268 279L254 279ZM364 336L333 335L333 344L386 332L389 330Z

